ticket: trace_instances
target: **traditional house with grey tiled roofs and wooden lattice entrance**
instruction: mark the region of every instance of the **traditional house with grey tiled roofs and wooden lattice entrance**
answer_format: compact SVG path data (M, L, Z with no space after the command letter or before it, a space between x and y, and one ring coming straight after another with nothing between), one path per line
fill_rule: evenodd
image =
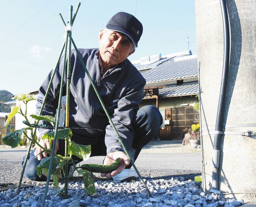
M197 55L191 51L158 54L132 63L146 79L140 106L154 105L162 114L164 122L158 138L182 140L182 130L198 117L193 109L198 95Z

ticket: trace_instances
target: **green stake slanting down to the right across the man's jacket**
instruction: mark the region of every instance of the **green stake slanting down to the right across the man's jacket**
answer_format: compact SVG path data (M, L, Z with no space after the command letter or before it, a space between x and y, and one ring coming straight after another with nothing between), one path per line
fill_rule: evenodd
M91 84L92 84L92 87L93 87L93 89L94 89L94 91L95 91L95 93L96 93L96 95L97 95L97 97L98 97L98 99L99 99L99 101L100 101L100 103L101 103L101 105L102 105L102 107L103 107L103 109L104 109L104 111L105 111L107 117L108 117L108 120L109 120L111 126L113 127L113 129L114 129L114 131L115 131L115 133L116 133L116 136L118 137L119 142L121 143L122 147L124 148L124 152L125 152L126 155L128 156L128 158L129 158L129 160L130 160L132 166L134 167L134 170L136 171L136 173L137 173L137 175L139 176L140 180L142 181L144 187L145 187L146 190L148 191L148 194L150 195L150 197L153 197L153 195L152 195L151 192L149 191L148 187L146 186L144 180L142 179L142 177L141 177L141 175L140 175L138 169L136 168L136 166L135 166L135 164L134 164L134 161L133 161L132 158L130 157L129 152L126 150L126 147L125 147L125 145L124 145L124 142L123 142L122 139L120 138L120 136L119 136L119 134L118 134L118 131L116 130L116 127L114 126L114 123L112 122L112 119L111 119L110 115L108 114L108 111L107 111L107 109L106 109L106 106L104 105L104 103L103 103L103 101L102 101L102 99L101 99L101 97L100 97L100 94L98 93L98 90L96 89L96 87L95 87L95 85L94 85L94 82L92 81L92 78L91 78L91 76L90 76L90 74L89 74L89 72L88 72L88 70L87 70L87 68L86 68L86 65L84 64L84 61L83 61L83 59L82 59L82 56L81 56L80 52L78 51L78 49L77 49L77 47L76 47L76 44L74 43L74 40L73 40L73 39L72 39L72 43L73 43L73 45L74 45L74 48L75 48L76 53L77 53L77 55L78 55L78 58L80 59L80 62L82 63L82 66L84 67L84 70L85 70L85 72L86 72L86 74L87 74L87 76L88 76L88 78L89 78L89 80L90 80L90 82L91 82Z

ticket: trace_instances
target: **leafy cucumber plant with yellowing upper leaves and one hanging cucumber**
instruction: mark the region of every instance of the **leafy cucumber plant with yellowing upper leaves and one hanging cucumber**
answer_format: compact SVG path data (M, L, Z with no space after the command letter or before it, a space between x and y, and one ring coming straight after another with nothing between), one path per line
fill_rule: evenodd
M4 128L6 128L10 122L10 120L18 113L21 114L24 119L26 120L25 123L28 125L26 128L22 128L20 130L16 130L14 132L10 132L6 134L3 138L2 141L4 144L11 146L12 148L17 147L20 142L22 141L22 134L26 136L30 142L35 143L37 146L43 149L42 152L52 152L51 149L46 149L43 146L39 144L39 142L36 140L36 127L40 126L37 125L40 120L46 120L50 122L53 126L55 126L56 120L54 116L38 116L36 114L31 114L30 117L28 118L27 114L27 105L29 101L33 101L36 99L34 95L16 95L14 96L13 99L16 99L17 101L21 102L24 104L25 109L22 108L21 106L14 106L10 114L8 115L8 118L6 120L6 123L4 125ZM36 120L34 123L30 123L30 120ZM28 136L28 133L30 131L30 136ZM81 145L81 144L76 144L75 142L71 141L72 137L72 130L70 128L65 128L65 129L60 129L58 130L57 134L57 140L59 139L67 139L68 140L68 156L62 156L59 154L54 154L54 160L52 164L52 171L51 171L51 178L53 179L54 187L58 188L58 179L64 175L64 165L69 164L73 165L74 169L78 172L78 175L82 175L84 178L84 188L90 195L95 195L96 194L96 189L94 185L94 181L92 178L92 175L90 172L112 172L118 166L120 165L120 158L116 159L116 161L108 166L102 166L102 165L96 165L96 164L84 164L81 166L76 166L74 160L72 159L72 155L76 155L78 158L81 158L83 160L87 160L90 157L91 154L91 146L90 145ZM51 146L51 141L54 139L54 132L48 132L42 136L42 139L48 139L50 142ZM30 148L28 149L28 153L30 152ZM24 168L26 165L24 165ZM41 160L40 164L36 168L36 173L39 177L44 175L48 175L49 173L49 167L50 167L50 157L44 158ZM24 172L24 170L23 170ZM22 181L22 176L20 177L20 184ZM20 187L19 184L19 187ZM66 183L65 183L66 184ZM18 187L18 188L19 188Z

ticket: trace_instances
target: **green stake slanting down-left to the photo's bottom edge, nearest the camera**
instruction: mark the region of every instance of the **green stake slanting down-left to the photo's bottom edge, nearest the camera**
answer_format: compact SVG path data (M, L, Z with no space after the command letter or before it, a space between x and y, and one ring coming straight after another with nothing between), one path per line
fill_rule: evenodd
M55 152L56 141L57 141L57 133L58 133L58 126L59 126L59 118L60 118L60 107L61 107L61 99L62 99L62 91L63 91L63 83L64 83L64 73L65 73L65 66L66 66L67 45L68 45L68 33L66 35L66 42L65 42L65 53L64 53L62 76L61 76L61 82L60 82L60 95L59 95L59 102L58 102L58 111L57 111L57 118L56 118L55 132L54 132L54 140L53 140L53 145L52 145L52 155L51 155L51 159L50 159L50 166L49 166L47 181L46 181L45 189L44 189L44 197L43 197L42 205L41 205L42 207L44 207L44 205L45 205L46 195L47 195L48 188L49 188L49 182L50 182L51 172L52 172L52 161L54 158L54 152Z

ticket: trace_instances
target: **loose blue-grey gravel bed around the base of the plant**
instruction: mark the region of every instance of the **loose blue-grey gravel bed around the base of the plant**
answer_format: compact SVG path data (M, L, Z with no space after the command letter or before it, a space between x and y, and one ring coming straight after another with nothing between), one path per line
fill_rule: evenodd
M243 201L224 199L222 194L212 193L205 195L201 190L201 183L192 180L184 181L183 177L171 179L145 179L148 188L153 194L150 197L140 181L117 182L96 181L97 195L89 196L84 189L83 182L68 183L68 199L58 195L64 187L59 183L59 189L49 186L46 198L46 207L79 207L79 206L185 206L185 207L236 207ZM1 207L37 207L41 205L44 185L34 182L34 187L9 189L0 193Z

